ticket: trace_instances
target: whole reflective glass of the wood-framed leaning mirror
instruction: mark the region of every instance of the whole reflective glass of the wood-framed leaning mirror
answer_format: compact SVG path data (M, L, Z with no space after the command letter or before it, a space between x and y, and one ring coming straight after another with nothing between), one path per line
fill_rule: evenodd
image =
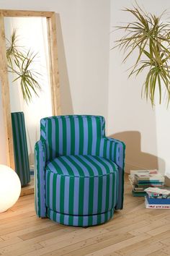
M33 185L34 146L40 138L40 119L53 115L47 19L5 17L4 23L6 51L14 51L12 60L8 59L8 76L15 169L22 186L27 186Z

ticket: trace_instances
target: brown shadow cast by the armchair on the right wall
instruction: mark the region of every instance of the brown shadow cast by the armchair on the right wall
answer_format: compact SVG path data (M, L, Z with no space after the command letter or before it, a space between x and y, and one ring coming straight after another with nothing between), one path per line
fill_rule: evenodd
M158 169L160 165L165 170L165 162L156 155L141 151L141 135L138 131L119 132L109 137L125 142L125 172L140 169Z

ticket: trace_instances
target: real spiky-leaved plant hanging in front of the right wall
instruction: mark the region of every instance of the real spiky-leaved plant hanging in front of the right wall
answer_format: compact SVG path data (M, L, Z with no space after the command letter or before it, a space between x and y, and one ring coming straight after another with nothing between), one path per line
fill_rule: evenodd
M160 16L147 13L136 3L132 9L125 8L133 17L132 22L117 26L125 35L115 41L114 48L123 51L125 62L133 52L137 52L133 67L130 68L129 77L140 74L146 70L146 78L143 84L143 93L146 99L150 98L152 106L158 87L159 103L161 104L162 93L167 93L167 103L170 99L170 22L161 21L166 14Z

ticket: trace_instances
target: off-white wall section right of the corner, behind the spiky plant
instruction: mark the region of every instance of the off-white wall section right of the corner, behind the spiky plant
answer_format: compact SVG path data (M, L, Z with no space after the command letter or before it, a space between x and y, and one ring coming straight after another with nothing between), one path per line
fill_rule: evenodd
M133 1L111 0L110 31L121 22L132 21L123 7L132 7ZM170 7L169 0L138 1L148 12L161 14ZM122 37L122 32L113 32L110 48L114 40ZM166 106L151 108L151 103L141 99L140 92L145 77L131 77L128 80L126 70L134 59L122 64L122 54L118 49L110 51L109 59L109 135L125 140L127 144L126 168L159 168L170 172L170 119Z

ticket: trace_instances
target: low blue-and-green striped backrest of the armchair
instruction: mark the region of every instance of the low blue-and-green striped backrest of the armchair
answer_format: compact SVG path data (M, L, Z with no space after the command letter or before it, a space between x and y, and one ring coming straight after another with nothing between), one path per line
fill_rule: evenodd
M100 140L105 136L103 116L52 116L41 119L40 124L48 160L59 155L99 155Z

